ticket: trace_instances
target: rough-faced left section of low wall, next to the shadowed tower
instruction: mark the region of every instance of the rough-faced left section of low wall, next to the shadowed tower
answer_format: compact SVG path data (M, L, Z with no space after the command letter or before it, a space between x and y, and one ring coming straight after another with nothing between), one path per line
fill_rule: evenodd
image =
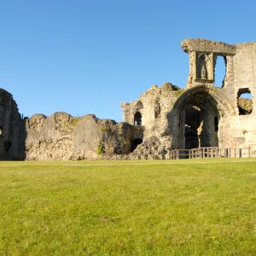
M73 141L73 117L54 113L26 119L26 160L68 160Z

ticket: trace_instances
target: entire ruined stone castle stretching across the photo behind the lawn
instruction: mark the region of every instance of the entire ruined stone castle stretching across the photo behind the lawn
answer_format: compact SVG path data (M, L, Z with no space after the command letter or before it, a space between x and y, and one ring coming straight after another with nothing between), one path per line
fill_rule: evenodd
M182 49L189 54L184 89L153 85L137 101L121 103L122 123L67 113L23 119L0 90L0 159L168 159L172 149L200 147L251 148L256 156L256 42L188 39ZM219 57L226 73L216 87Z

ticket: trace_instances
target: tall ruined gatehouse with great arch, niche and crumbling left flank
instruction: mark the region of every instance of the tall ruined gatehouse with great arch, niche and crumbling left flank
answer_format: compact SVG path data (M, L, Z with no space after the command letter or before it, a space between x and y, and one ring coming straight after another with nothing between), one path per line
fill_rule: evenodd
M145 158L148 155L149 158L167 158L171 149L192 147L193 143L186 142L187 137L193 140L193 136L186 135L189 131L195 133L199 146L252 148L256 155L255 111L241 115L238 102L242 100L237 96L238 90L246 91L246 88L253 96L256 93L256 43L224 44L188 39L183 41L182 48L189 54L189 79L184 90L177 93L171 89L172 93L166 94L163 90L166 85L162 88L154 85L136 102L121 105L124 120L131 124L134 114L137 111L142 113L144 142L134 154L141 158L143 154ZM224 57L226 65L221 88L215 87L218 56ZM154 112L158 110L154 104L156 98L162 109L160 119L154 118ZM253 97L253 105L255 101ZM138 109L141 103L143 108ZM197 115L193 108L199 109ZM201 121L193 122L193 119ZM151 149L148 151L148 148Z

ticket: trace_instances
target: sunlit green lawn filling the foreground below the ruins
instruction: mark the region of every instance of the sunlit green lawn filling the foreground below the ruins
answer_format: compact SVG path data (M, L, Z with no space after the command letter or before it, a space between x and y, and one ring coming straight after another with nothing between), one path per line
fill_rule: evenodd
M256 255L256 159L0 162L0 255Z

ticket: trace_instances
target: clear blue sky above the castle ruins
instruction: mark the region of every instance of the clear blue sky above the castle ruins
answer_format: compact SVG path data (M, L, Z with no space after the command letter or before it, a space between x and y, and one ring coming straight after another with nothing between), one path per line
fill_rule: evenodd
M95 113L152 84L183 87L184 38L256 40L256 1L0 0L0 87L20 113Z

